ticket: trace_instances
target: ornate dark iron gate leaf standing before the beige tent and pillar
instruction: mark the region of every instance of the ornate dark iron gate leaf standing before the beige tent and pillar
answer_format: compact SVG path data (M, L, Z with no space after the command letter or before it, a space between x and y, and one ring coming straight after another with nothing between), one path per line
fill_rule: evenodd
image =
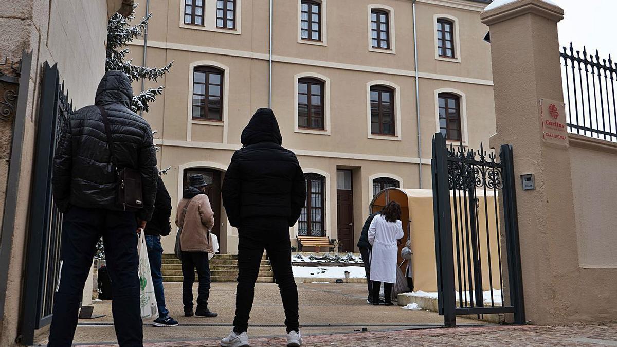
M455 327L457 315L498 313L513 313L514 322L524 324L511 146L503 145L498 158L482 144L479 151L447 146L437 133L431 166L437 295L445 325Z

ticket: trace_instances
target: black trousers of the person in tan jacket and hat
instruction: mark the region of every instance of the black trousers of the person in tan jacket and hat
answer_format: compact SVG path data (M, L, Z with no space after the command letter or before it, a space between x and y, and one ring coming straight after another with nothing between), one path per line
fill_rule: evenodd
M210 298L210 262L208 253L182 252L182 304L184 311L193 309L193 283L197 269L197 309L207 309Z

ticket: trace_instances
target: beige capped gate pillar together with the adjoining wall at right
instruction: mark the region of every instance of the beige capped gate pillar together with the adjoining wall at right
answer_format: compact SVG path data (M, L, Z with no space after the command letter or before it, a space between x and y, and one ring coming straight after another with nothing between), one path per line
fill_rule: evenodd
M491 29L493 148L511 144L526 319L555 325L615 320L615 144L543 140L540 99L563 102L557 22L563 10L520 0L482 14ZM536 177L523 191L522 174ZM503 230L503 225L502 225Z

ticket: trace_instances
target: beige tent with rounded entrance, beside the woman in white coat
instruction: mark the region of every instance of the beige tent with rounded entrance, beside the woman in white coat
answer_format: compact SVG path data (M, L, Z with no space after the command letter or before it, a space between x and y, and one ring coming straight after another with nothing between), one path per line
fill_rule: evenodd
M497 223L495 217L495 206L497 206L496 196L491 192L487 192L486 199L484 199L484 192L478 190L476 192L478 197L478 236L480 243L479 257L482 264L482 287L483 290L490 290L491 288L500 289L501 280L499 276L499 252L498 252L498 238L495 234ZM402 209L401 221L403 222L403 228L405 236L402 239L401 245L399 245L399 261L398 264L402 264L401 269L405 272L407 263L400 257L400 249L405 246L405 242L409 237L412 240L412 269L413 269L413 282L414 290L418 291L437 291L437 269L435 261L435 231L434 231L434 219L433 219L433 190L427 189L402 189L402 188L387 188L375 196L371 202L371 212L380 211L389 201L397 201ZM451 200L453 202L453 198ZM484 204L486 201L486 207L488 213L485 213ZM451 205L453 206L453 205ZM488 222L489 235L487 238L486 222ZM454 221L452 221L454 224ZM459 221L460 224L460 221ZM455 228L452 227L453 233ZM460 229L460 228L459 228ZM453 251L455 259L455 285L458 288L458 264L457 264L457 249L456 238L453 238ZM461 245L466 245L465 232L459 232L459 240ZM488 244L487 244L487 240ZM489 280L489 256L488 246L491 248L491 267L492 267L492 283ZM466 250L465 250L466 252ZM463 256L462 256L463 258ZM465 253L466 261L466 253ZM397 265L398 265L397 264ZM466 262L463 265L463 259L461 259L461 276L463 276L463 270L466 269ZM463 269L464 268L464 269ZM504 274L505 275L505 274Z

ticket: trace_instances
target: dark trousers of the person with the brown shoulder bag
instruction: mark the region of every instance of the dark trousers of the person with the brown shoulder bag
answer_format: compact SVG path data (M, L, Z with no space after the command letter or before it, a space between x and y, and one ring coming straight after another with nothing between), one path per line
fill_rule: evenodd
M134 212L84 209L72 206L64 215L62 270L54 298L49 346L70 346L97 241L103 238L112 280L112 312L118 344L143 346Z

